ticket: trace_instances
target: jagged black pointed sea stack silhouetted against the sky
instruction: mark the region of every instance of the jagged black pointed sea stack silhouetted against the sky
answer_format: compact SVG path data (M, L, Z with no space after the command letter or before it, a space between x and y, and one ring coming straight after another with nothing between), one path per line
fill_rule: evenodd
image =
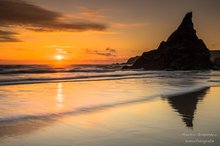
M146 70L203 70L211 69L209 49L196 35L192 12L167 41L162 41L156 50L144 52L131 67Z

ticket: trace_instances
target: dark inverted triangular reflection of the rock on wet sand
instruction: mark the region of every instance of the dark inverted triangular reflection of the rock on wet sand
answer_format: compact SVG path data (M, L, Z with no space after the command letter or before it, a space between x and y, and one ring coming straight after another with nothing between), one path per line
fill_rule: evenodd
M194 93L172 96L166 99L175 112L179 113L186 127L193 128L193 119L197 104L203 100L208 91L209 88L205 88Z

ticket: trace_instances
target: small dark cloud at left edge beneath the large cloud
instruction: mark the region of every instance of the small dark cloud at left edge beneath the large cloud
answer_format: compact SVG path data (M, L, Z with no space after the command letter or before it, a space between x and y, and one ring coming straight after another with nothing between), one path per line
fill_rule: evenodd
M0 30L0 42L20 42L14 35L17 35L17 33Z

